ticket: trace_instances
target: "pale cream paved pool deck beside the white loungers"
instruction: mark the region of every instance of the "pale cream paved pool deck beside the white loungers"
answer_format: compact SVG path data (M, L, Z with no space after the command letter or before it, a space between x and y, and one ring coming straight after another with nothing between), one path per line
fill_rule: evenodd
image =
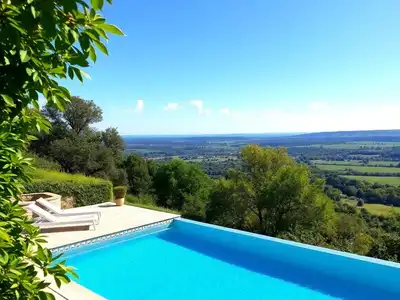
M162 222L179 217L179 215L144 209L131 205L116 206L112 202L85 206L76 210L98 210L101 212L100 224L96 228L86 231L66 231L45 233L47 248L56 248L102 235L112 234L118 231L131 229L155 222ZM57 300L105 300L105 298L87 288L71 282L57 288L54 282L48 287Z

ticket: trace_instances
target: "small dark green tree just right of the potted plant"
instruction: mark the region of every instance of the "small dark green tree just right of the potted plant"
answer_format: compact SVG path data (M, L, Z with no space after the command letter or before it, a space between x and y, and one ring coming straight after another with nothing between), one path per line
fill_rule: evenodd
M151 189L151 177L147 161L137 154L131 154L122 165L127 174L129 192L134 195L148 193Z

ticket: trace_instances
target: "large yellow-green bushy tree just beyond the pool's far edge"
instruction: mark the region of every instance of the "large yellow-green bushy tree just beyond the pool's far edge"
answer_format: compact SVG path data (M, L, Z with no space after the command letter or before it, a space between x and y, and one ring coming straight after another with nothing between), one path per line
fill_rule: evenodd
M285 150L251 145L243 148L242 160L245 171L232 170L213 191L209 221L277 236L317 228L329 218L323 182L311 182L309 169Z

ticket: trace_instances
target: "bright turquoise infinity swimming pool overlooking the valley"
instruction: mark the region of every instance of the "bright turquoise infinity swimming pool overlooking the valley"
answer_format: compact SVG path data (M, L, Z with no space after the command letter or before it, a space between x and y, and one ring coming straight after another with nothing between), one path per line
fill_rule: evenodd
M185 219L66 251L110 299L400 299L400 265Z

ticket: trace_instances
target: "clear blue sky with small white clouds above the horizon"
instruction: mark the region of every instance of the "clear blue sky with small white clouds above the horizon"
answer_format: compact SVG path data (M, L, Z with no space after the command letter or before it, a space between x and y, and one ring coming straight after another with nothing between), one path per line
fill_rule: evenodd
M114 0L73 95L121 134L400 128L400 1Z

